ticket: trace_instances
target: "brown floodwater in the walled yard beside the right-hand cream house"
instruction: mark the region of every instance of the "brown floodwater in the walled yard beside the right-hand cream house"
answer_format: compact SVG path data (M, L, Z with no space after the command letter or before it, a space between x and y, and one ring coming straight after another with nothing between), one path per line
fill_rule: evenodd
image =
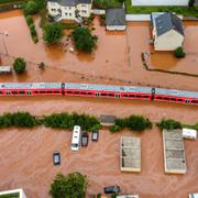
M198 22L185 21L185 58L176 58L174 53L154 52L151 54L150 68L198 74Z

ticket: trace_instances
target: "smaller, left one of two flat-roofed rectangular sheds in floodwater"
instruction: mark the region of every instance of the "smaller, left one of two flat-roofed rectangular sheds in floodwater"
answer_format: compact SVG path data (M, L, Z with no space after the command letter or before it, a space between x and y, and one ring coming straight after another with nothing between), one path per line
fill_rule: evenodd
M140 138L122 136L120 144L121 172L141 172Z

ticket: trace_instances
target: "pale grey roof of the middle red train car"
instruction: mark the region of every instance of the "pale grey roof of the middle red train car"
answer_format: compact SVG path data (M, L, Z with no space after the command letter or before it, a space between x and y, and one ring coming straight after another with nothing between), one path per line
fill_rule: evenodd
M152 90L152 88L150 87L94 85L94 84L65 84L65 88L81 89L81 90L118 91L118 92L144 92L144 94L151 94Z

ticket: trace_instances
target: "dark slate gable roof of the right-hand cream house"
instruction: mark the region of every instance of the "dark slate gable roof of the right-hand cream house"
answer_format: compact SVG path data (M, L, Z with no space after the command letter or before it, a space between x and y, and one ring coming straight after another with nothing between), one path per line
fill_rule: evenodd
M179 34L184 35L182 20L170 12L165 12L164 14L155 18L155 26L157 36L161 36L170 30L175 30Z

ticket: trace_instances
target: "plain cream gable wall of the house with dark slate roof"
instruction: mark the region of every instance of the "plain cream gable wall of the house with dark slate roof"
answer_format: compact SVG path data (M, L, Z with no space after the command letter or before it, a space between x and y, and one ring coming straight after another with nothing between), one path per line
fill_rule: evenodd
M184 36L172 30L161 36L155 36L154 47L155 51L175 51L177 47L183 46Z

